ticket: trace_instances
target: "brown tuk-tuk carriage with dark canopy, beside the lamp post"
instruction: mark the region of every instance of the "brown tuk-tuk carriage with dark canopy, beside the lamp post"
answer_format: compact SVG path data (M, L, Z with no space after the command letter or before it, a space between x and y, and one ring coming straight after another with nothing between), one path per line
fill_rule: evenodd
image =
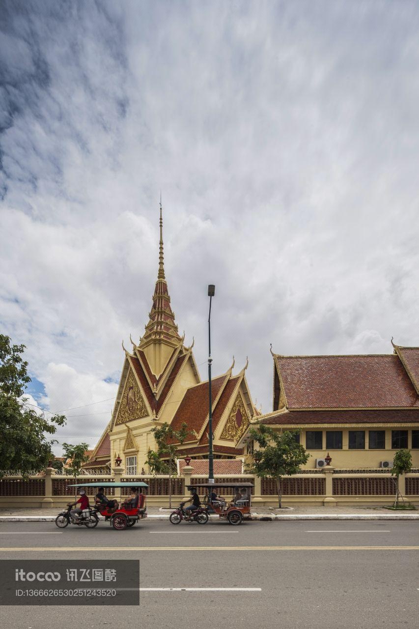
M237 526L243 520L252 520L250 508L252 506L252 487L251 482L201 482L196 485L190 485L187 489L193 487L199 492L199 489L205 490L204 504L208 513L216 514L220 520L227 520L229 524ZM215 499L218 496L218 490L232 489L233 499L226 501L225 499Z

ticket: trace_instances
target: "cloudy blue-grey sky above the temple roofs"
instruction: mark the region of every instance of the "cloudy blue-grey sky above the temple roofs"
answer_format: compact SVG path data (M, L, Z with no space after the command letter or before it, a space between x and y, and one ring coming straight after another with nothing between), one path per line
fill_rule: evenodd
M158 267L206 379L419 345L419 3L3 0L0 331L93 447ZM56 447L60 454L60 445Z

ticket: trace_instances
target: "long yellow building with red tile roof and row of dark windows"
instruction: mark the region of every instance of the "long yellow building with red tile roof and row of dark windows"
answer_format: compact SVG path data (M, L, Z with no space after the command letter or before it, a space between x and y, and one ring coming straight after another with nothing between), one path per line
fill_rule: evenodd
M399 448L419 467L419 348L392 340L392 354L282 356L274 360L273 411L255 418L277 430L300 431L311 457L306 469L392 467ZM235 442L250 454L249 430Z

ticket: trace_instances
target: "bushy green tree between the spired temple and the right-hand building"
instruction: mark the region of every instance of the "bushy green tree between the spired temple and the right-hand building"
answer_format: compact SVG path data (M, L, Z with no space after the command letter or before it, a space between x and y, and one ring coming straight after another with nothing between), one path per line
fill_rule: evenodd
M298 430L285 430L279 433L269 426L260 424L251 428L250 437L259 445L260 450L253 454L252 472L260 478L276 479L278 505L282 506L282 476L297 474L300 465L304 465L310 455L302 445L296 442Z

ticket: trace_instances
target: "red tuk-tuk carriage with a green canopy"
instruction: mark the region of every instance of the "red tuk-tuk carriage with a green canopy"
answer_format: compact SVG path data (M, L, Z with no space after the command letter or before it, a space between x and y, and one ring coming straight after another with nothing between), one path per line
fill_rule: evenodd
M135 489L147 488L146 482L85 482L83 484L69 485L69 487L103 487L106 489L115 489L115 487L123 487L128 489L135 487ZM126 500L118 506L118 508L109 508L107 503L101 502L98 498L95 498L94 508L97 513L103 516L105 521L109 522L109 525L113 526L117 531L121 531L129 526L134 526L138 520L147 518L147 507L145 505L145 494L138 493L135 499ZM111 499L112 501L112 499Z

